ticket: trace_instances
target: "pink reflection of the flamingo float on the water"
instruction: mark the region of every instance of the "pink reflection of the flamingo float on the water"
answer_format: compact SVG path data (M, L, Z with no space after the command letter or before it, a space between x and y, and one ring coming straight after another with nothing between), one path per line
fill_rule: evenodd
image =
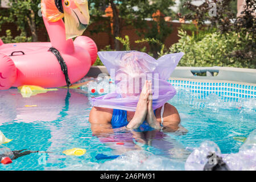
M13 121L51 122L65 117L65 111L82 105L87 108L87 104L88 98L75 90L67 92L67 89L59 89L23 98L16 89L9 89L0 92L0 125ZM26 105L36 105L36 107L26 107Z

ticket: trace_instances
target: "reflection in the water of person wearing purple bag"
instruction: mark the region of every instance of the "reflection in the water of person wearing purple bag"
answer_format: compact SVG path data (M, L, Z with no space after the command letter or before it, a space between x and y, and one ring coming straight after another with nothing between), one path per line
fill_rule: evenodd
M125 127L112 129L110 125L101 125L102 132L99 132L95 127L97 126L92 125L93 135L112 148L113 155L121 155L132 150L144 150L167 158L185 160L190 153L176 139L171 138L170 133L166 134L156 130L128 130ZM185 133L177 131L174 134L183 135Z

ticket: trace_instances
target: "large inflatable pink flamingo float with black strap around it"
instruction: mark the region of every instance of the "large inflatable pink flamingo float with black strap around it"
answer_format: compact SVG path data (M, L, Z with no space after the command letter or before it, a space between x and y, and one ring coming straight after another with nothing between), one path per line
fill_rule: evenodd
M42 0L42 15L51 42L4 44L0 39L0 90L70 85L96 60L96 44L79 36L89 23L86 0Z

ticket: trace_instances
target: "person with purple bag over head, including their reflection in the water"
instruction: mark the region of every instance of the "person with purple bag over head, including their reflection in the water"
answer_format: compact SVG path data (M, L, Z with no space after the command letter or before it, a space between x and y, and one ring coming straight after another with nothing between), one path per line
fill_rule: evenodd
M187 133L179 125L177 109L167 103L176 94L167 80L183 53L158 60L138 51L103 51L98 56L114 78L115 89L91 99L89 122L93 134L113 148L117 148L115 142L125 142L118 147L122 152L141 150L143 146L165 147L167 153L174 146L179 148L174 140L164 139L164 133Z

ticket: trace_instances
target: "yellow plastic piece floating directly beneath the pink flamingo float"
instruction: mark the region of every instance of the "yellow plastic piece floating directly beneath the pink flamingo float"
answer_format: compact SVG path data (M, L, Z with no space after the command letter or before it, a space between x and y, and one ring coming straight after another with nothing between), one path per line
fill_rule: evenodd
M56 91L58 89L45 89L41 86L35 86L35 85L23 85L19 86L18 90L20 91L20 94L22 94L22 97L28 98L31 96L35 96L39 93L46 93L48 91Z

